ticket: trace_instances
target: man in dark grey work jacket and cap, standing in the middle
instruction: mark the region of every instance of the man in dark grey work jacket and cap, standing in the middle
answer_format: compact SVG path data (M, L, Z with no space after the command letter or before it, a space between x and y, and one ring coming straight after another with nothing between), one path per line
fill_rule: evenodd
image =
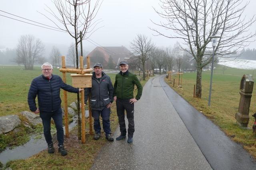
M114 88L111 79L103 72L102 64L96 63L93 67L92 87L85 88L84 101L86 102L90 95L90 106L92 108L92 117L94 118L94 139L100 139L101 127L100 116L102 117L102 127L108 141L114 141L111 137L110 129L110 107L114 101Z

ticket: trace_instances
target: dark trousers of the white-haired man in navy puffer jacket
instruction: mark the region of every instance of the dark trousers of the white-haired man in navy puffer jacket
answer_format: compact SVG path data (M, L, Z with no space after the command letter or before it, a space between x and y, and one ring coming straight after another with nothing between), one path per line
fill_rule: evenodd
M58 109L53 112L48 111L40 111L40 117L44 126L44 137L49 145L52 143L52 135L51 135L51 118L54 120L55 127L57 130L57 140L58 146L63 145L64 143L64 131L62 127L62 109Z

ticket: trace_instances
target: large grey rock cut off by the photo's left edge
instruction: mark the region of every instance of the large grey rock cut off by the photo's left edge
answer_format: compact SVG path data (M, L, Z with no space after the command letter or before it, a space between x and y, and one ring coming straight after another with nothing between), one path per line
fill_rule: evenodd
M0 117L0 134L12 131L20 125L21 121L18 115L7 115Z

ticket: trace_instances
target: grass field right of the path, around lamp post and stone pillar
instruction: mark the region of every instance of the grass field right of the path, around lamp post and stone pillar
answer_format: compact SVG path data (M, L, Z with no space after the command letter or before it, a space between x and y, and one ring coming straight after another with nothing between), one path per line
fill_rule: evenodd
M180 96L187 100L198 111L202 111L206 117L218 125L226 135L233 141L240 143L244 149L248 150L256 158L256 135L252 130L241 129L236 124L235 114L238 111L240 101L240 80L243 74L252 74L253 70L241 70L236 68L227 68L225 74L222 74L222 66L217 66L213 74L211 106L208 107L208 95L210 87L210 71L202 74L202 99L193 98L194 84L196 84L196 73L184 73L182 76L182 89L176 88L178 76L175 78L175 86L166 82ZM254 75L255 78L255 75ZM256 112L256 84L251 98L248 127L252 128Z

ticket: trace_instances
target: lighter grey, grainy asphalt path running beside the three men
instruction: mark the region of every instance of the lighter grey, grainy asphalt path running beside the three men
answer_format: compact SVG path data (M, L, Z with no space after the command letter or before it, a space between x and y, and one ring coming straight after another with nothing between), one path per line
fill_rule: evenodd
M163 90L167 85L161 85L160 78L148 80L134 106L133 143L128 144L127 138L107 143L92 170L212 169ZM118 127L114 139L119 134Z

